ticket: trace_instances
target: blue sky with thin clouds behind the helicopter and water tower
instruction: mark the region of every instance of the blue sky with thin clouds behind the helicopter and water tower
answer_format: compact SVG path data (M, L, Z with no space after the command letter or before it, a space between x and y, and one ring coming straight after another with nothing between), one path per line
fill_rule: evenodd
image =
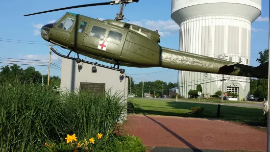
M73 5L105 1L109 0L12 0L12 2L11 0L2 0L0 5L1 57L16 59L38 58L39 60L48 60L49 46L44 45L46 44L46 42L41 38L39 34L40 27L42 25L48 24L53 20L57 20L66 12L74 12L92 18L114 19L116 13L119 12L120 5L76 8L26 17L24 16L25 14ZM124 10L125 18L128 19L129 22L136 23L137 25L143 25L150 29L158 28L159 32L162 32L160 45L163 47L178 50L179 30L171 19L171 0L168 0L167 3L158 3L156 1L157 0L140 0L138 3L135 2L128 4ZM262 3L262 14L259 19L253 22L251 25L251 66L258 66L259 64L258 62L256 62L256 58L259 57L258 52L268 49L269 2L268 0L262 0ZM124 20L123 22L128 21ZM169 26L172 28L169 29ZM59 48L55 48L59 50ZM68 50L65 51L68 52ZM2 58L0 58L0 62L5 62ZM87 60L96 62L96 60L90 58L88 58ZM61 66L60 56L53 54L51 56L51 61ZM111 66L111 64L106 64L100 61L97 62L100 64ZM0 66L2 65L7 64L0 63ZM39 65L41 65L41 63L39 63ZM46 64L42 63L42 65L45 66L34 67L41 73L48 73ZM27 66L29 65L21 65L21 67L24 69L27 68ZM55 68L55 66L53 67ZM170 81L175 83L177 82L176 70L168 71L168 69L165 68L121 68L124 68L127 74L130 74L132 77L134 77L136 83L140 82L141 79L145 79L146 81L164 80L167 83ZM51 68L50 75L61 76L61 71L59 70L59 68L58 70Z

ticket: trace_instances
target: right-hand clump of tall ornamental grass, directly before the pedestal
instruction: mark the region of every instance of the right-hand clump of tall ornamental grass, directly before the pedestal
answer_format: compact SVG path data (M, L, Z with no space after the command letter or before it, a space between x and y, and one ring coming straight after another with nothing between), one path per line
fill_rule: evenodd
M124 123L127 102L122 92L112 93L110 90L104 94L78 92L63 96L73 111L74 130L78 136L90 137L97 132L108 136L112 131L122 130L116 123Z

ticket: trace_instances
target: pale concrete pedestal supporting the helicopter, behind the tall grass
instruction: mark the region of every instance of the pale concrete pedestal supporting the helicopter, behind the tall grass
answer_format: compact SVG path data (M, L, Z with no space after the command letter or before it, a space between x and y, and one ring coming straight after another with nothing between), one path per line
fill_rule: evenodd
M92 68L96 67L96 72ZM120 71L112 70L96 65L79 63L71 59L62 58L61 70L61 91L79 90L80 86L84 89L92 90L97 87L110 90L111 94L121 92L123 101L127 100L128 95L128 76L121 77ZM76 92L76 91L75 91Z

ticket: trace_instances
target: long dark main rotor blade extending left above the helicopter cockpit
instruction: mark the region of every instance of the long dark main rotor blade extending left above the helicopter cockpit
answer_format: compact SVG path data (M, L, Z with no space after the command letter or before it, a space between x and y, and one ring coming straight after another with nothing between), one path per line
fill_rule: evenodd
M92 4L76 5L76 6L52 9L52 10L43 11L43 12L37 12L37 13L33 13L33 14L27 14L27 15L24 15L24 16L30 16L30 15L36 15L36 14L42 14L42 13L48 13L48 12L54 12L54 11L59 11L59 10L72 9L72 8L99 6L99 5L110 5L110 4L113 5L113 4L118 4L118 3L116 3L116 1L109 1L109 2L99 2L99 3L92 3Z

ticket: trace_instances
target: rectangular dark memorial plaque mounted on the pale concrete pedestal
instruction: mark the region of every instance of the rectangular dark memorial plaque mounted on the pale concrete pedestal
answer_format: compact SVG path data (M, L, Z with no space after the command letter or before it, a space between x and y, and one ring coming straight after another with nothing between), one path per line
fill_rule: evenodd
M105 83L91 83L91 82L80 82L80 91L86 91L90 93L105 93Z

